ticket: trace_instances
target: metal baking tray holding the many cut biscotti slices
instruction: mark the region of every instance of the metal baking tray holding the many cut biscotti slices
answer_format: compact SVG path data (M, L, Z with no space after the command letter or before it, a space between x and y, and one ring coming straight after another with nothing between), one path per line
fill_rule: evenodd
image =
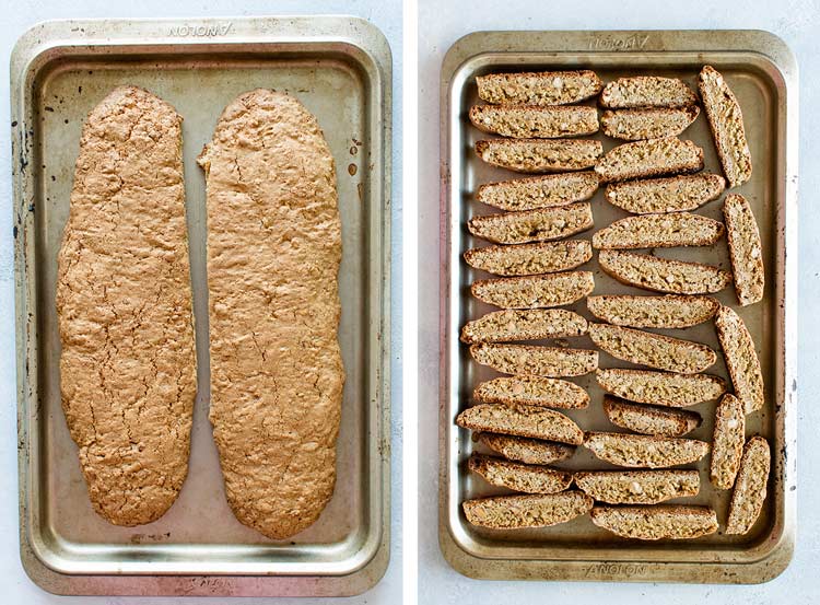
M499 532L470 525L460 503L503 490L470 476L465 463L479 446L471 442L469 431L454 423L458 411L470 405L473 386L497 375L471 361L467 347L458 340L461 325L492 310L469 293L469 284L488 275L468 267L461 254L485 245L466 229L471 216L493 211L475 201L478 185L516 177L482 163L472 149L476 140L488 137L467 118L469 107L479 102L476 75L593 69L605 82L652 73L680 77L696 90L695 78L705 63L722 71L738 96L754 163L751 181L733 191L750 200L765 256L765 298L739 310L758 346L768 392L763 410L748 418L747 430L748 434L764 435L773 450L769 498L761 519L746 536L724 535L730 492L712 488L707 456L696 465L700 495L680 502L710 504L717 510L722 528L712 536L659 543L626 540L596 527L588 515L543 530ZM441 94L440 542L447 560L466 575L487 579L753 583L777 575L792 558L795 535L797 67L792 53L772 34L750 31L481 32L461 38L447 53ZM595 104L595 100L588 103ZM719 173L707 121L701 114L681 138L702 147L706 170ZM600 133L596 138L606 149L617 144ZM722 201L712 201L699 212L722 220L721 209ZM581 237L590 238L596 230L626 216L604 200L602 189L593 198L593 212L595 228ZM715 246L664 249L658 255L729 267L725 240ZM597 254L582 268L594 271L596 293L648 293L604 274ZM717 298L738 309L733 288ZM570 309L593 318L583 301ZM711 322L665 333L719 350ZM594 348L588 337L569 342ZM601 367L630 364L601 353ZM722 358L708 371L728 379ZM585 430L618 430L604 415L602 392L594 374L574 382L587 388L591 403L588 409L569 410L569 416ZM711 441L714 404L694 409L704 422L691 437ZM579 447L573 458L557 466L582 469L608 465Z

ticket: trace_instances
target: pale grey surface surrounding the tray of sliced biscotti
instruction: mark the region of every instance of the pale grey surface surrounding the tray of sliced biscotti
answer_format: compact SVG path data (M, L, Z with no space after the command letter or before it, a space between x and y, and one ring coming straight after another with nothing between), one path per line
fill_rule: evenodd
M489 582L469 580L441 555L437 538L438 472L438 280L432 275L438 255L438 82L447 49L461 36L485 30L701 30L757 28L782 37L797 56L800 71L800 230L798 362L798 523L797 549L788 569L768 584L751 586L618 584L569 582ZM817 246L820 216L813 196L820 189L816 141L820 123L820 5L810 0L561 1L505 0L461 2L419 0L419 221L420 331L419 385L419 603L586 604L635 603L648 598L664 605L809 604L820 602L820 429L817 403L820 379L816 314ZM813 253L813 254L812 254Z

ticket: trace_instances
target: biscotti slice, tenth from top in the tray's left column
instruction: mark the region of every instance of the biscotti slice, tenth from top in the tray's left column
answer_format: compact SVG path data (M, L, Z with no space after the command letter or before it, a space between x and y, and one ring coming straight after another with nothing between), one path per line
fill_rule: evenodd
M589 395L577 384L539 376L509 376L482 382L473 389L472 398L482 404L508 406L585 408L589 405Z

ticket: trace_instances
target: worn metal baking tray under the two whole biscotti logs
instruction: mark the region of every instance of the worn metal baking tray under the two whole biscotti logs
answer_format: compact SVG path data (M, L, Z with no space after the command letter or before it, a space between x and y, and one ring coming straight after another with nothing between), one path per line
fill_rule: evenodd
M390 49L350 16L61 21L11 58L19 370L20 538L28 575L63 594L349 595L389 558ZM60 408L56 255L87 112L137 84L184 117L199 393L190 469L159 521L116 527L89 501ZM336 160L347 383L336 491L289 542L225 501L208 421L204 179L195 159L224 106L258 86L297 96Z

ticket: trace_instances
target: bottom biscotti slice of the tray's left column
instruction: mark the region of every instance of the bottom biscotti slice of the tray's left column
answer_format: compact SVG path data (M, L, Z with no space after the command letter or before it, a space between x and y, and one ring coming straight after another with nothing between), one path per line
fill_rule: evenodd
M593 509L593 499L583 491L562 491L467 500L461 508L472 525L491 530L519 530L572 521Z

